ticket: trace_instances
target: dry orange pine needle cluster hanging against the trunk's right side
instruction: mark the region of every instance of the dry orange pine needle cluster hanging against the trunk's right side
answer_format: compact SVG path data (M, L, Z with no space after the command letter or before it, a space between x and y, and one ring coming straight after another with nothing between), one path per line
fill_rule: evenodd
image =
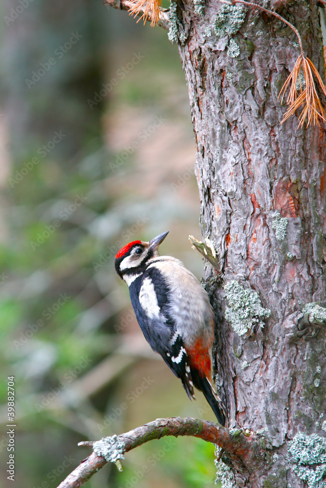
M325 110L319 100L313 75L317 78L321 89L326 95L326 86L324 85L314 63L304 56L299 56L293 70L280 91L279 98L282 96L282 103L286 89L290 85L289 94L286 99L286 103L289 107L281 123L291 117L301 106L302 112L298 119L299 128L303 127L306 117L308 119L307 126L311 123L320 125L320 120L326 122Z

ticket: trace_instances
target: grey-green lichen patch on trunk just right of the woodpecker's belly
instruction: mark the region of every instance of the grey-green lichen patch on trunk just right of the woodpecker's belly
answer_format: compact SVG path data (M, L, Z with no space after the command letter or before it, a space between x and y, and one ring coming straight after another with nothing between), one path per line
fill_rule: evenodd
M260 319L270 316L271 311L261 306L261 300L256 291L250 291L237 281L230 281L224 285L229 307L225 309L225 318L238 335L251 330L254 324L264 326Z

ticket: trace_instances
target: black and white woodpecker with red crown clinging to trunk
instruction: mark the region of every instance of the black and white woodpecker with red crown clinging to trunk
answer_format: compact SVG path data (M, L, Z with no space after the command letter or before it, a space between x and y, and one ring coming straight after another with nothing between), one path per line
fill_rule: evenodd
M196 386L224 426L225 411L212 385L213 309L206 291L181 261L159 256L158 246L167 234L125 245L115 256L115 270L129 286L147 342L180 378L190 400L196 400Z

